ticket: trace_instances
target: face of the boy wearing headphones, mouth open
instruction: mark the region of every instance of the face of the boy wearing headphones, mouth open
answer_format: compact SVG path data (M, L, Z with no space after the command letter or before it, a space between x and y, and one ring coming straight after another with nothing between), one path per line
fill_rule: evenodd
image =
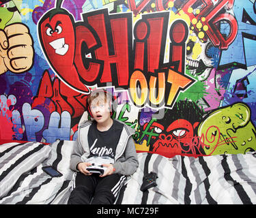
M104 123L111 119L109 104L104 99L94 99L90 104L91 115L97 123Z

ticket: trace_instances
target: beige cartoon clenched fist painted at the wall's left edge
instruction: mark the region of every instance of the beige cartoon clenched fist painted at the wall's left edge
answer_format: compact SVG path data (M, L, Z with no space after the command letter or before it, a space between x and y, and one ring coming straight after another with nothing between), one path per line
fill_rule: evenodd
M0 29L0 74L26 72L33 65L33 55L33 40L26 25L14 23Z

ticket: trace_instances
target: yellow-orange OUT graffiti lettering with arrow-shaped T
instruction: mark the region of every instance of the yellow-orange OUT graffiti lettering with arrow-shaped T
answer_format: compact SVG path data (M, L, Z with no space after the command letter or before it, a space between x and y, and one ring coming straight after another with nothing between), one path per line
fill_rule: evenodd
M180 91L184 91L191 82L193 80L173 69L168 69L168 72L158 72L150 76L149 80L143 72L136 70L130 77L130 98L137 107L143 107L146 104L153 108L164 105L172 107Z

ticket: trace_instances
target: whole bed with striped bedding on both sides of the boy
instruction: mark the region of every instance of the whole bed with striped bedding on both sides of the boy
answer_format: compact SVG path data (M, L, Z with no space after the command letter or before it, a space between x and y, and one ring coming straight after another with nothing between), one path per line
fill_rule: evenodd
M8 142L0 145L0 204L66 204L74 187L70 170L74 141ZM138 153L139 168L116 204L255 204L256 152L168 159ZM53 166L62 176L42 170ZM141 191L143 176L156 172L156 186Z

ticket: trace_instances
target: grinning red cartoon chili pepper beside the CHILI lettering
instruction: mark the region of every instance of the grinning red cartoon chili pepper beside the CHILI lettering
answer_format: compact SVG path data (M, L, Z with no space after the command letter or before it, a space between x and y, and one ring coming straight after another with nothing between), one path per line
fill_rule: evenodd
M88 94L89 89L79 79L74 65L75 31L74 18L61 8L63 0L40 18L38 35L44 55L59 78L72 89Z

